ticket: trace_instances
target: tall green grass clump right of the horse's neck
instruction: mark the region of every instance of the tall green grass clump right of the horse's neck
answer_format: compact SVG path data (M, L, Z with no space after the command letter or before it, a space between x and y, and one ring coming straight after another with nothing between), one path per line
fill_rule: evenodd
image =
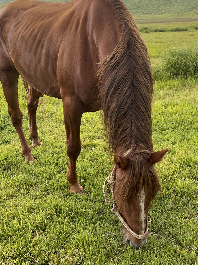
M189 48L170 48L161 55L161 62L153 68L156 79L184 78L198 80L198 43Z

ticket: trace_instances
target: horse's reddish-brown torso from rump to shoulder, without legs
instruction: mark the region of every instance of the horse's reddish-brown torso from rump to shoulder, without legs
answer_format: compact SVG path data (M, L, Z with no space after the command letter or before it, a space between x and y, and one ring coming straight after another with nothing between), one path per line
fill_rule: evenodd
M119 39L110 0L16 0L0 11L0 19L0 41L18 72L40 92L58 98L60 86L75 87L85 97L82 87L93 89L98 63Z

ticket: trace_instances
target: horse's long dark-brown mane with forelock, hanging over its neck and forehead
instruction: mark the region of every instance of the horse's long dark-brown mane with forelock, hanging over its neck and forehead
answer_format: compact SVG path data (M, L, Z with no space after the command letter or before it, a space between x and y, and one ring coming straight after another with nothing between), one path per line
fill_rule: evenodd
M140 149L153 152L153 79L148 51L127 8L120 0L111 2L122 34L114 51L100 62L97 78L109 152L112 154L119 148L123 154L132 149L120 183L122 194L117 204L121 208L143 186L153 198L160 184L153 167L145 162L144 152L137 152Z

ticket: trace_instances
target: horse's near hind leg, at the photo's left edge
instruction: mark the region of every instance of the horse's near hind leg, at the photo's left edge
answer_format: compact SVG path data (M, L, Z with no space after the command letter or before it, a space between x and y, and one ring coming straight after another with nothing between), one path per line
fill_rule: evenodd
M8 113L11 117L12 124L14 125L21 142L21 152L28 162L33 161L34 158L31 149L25 139L22 128L22 112L19 108L18 102L18 82L19 74L16 69L9 69L7 71L0 69L0 80L2 82L3 92L8 103Z

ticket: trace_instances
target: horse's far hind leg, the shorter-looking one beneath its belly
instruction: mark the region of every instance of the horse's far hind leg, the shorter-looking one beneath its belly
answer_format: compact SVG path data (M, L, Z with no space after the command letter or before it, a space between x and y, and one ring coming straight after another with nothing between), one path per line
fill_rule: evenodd
M27 96L27 109L29 115L29 135L33 146L42 145L38 139L36 111L38 107L39 97L41 93L30 86L30 91Z

